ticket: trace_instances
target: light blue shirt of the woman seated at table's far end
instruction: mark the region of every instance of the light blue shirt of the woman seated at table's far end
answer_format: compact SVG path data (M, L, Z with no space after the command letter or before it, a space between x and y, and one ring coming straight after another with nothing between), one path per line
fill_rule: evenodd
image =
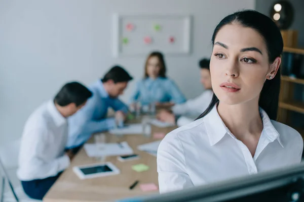
M137 82L136 89L131 96L130 103L139 101L143 105L152 102L181 104L186 101L174 81L158 77L156 79L145 78Z

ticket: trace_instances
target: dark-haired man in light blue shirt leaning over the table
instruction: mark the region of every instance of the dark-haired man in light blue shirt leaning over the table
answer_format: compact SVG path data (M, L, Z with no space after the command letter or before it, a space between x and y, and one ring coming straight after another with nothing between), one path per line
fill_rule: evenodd
M124 68L114 66L89 87L93 96L82 110L68 119L68 149L76 153L93 133L112 129L126 119L128 106L118 96L123 94L132 79ZM108 108L116 111L114 118L107 118Z

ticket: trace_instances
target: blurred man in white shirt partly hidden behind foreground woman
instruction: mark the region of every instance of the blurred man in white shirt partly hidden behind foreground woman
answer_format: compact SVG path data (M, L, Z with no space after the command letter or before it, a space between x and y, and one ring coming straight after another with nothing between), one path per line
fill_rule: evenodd
M204 92L200 96L189 99L183 104L174 105L172 111L160 111L157 115L160 121L183 126L194 121L196 117L207 109L213 95L209 64L209 59L202 59L199 62L201 68L201 83L205 88Z

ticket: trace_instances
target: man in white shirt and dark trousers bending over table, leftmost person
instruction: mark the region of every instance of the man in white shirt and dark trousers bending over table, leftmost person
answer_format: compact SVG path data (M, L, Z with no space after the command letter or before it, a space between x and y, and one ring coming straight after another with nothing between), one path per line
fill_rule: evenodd
M61 172L70 165L66 118L76 113L92 96L78 82L65 84L53 100L42 104L26 121L19 154L17 176L25 193L42 199Z

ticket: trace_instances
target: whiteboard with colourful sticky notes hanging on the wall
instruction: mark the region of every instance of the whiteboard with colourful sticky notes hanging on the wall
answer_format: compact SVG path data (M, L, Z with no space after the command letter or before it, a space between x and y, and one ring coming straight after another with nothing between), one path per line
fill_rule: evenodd
M152 51L189 54L191 16L113 15L113 55L146 56Z

